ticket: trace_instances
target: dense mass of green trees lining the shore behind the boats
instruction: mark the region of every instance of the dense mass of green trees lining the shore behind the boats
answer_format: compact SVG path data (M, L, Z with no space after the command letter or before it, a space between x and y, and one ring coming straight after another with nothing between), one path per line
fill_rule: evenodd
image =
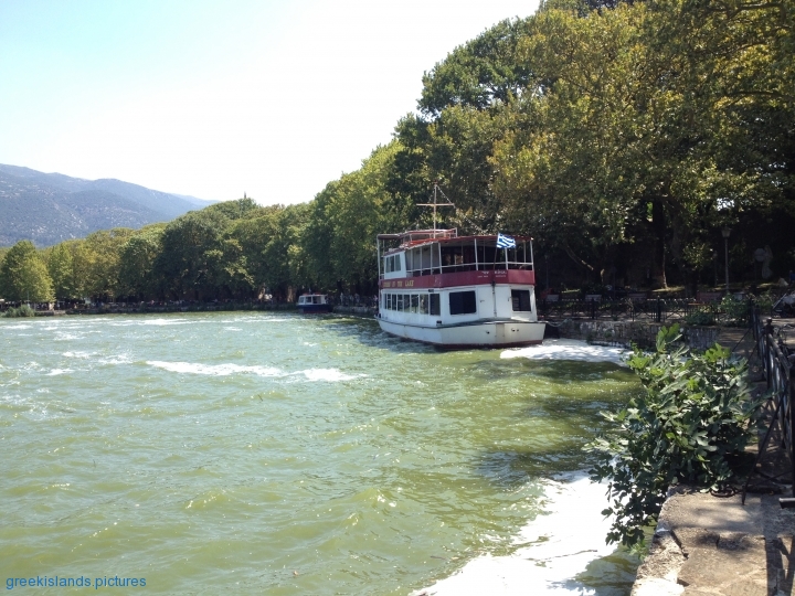
M428 226L416 205L436 180L446 225L534 236L550 285L717 284L727 245L732 278L759 278L764 247L762 272L786 276L794 25L795 0L549 0L454 49L394 140L308 204L244 199L64 242L42 255L54 292L369 294L374 235Z

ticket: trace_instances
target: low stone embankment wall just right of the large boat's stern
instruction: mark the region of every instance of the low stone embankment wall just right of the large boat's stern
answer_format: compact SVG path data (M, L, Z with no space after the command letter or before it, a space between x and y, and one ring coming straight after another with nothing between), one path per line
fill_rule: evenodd
M653 323L648 321L583 321L565 319L563 321L548 321L550 331L554 337L554 330L559 337L566 339L579 339L590 342L606 342L616 345L629 345L637 343L642 348L655 345L657 332L665 323ZM718 341L718 327L682 327L685 338L691 348L704 350ZM547 337L550 337L548 333Z

